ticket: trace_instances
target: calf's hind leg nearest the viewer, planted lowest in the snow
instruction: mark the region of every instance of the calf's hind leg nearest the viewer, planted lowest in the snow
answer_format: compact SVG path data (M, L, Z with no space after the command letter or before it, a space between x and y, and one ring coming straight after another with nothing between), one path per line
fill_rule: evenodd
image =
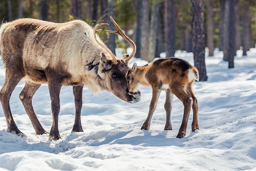
M171 91L182 101L184 105L183 119L177 135L177 138L183 138L186 135L187 122L193 99L186 94L182 86L173 86Z

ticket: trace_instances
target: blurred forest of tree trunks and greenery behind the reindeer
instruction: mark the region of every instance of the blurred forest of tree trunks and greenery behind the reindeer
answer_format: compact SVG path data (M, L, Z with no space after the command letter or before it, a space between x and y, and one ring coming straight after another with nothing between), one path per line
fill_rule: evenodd
M92 27L104 19L111 24L112 15L124 32L137 46L136 57L152 61L172 57L176 50L200 51L195 38L201 34L201 49L208 47L209 56L214 48L224 52L224 60L233 68L236 51L244 55L256 42L256 2L253 0L3 0L0 2L2 23L17 18L38 18L63 23L73 19L86 21ZM199 20L197 20L199 19ZM201 28L201 30L193 31ZM108 28L114 30L111 24ZM193 38L194 35L194 38ZM100 33L106 45L115 48L129 47L114 34ZM194 48L194 50L193 50ZM203 52L203 54L202 54ZM125 53L125 51L124 51ZM204 64L204 50L199 55L199 70ZM231 55L231 56L230 56ZM201 59L202 58L202 59ZM203 62L203 63L202 63ZM203 74L200 73L200 76ZM201 77L202 78L202 77ZM207 76L205 78L207 80Z

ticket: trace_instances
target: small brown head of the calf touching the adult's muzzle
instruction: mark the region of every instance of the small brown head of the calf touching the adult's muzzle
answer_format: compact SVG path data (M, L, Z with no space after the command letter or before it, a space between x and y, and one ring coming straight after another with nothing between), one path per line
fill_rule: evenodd
M137 97L138 95L141 95L140 91L138 90L139 81L141 77L139 77L136 71L137 71L137 63L134 63L133 68L130 69L126 75L127 92L130 95L133 95L135 97Z

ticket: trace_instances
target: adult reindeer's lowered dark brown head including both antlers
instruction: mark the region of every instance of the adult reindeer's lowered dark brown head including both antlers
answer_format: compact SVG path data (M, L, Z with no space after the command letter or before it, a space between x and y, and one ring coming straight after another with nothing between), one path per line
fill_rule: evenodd
M135 55L136 53L136 45L134 42L127 37L121 28L117 25L115 20L110 17L112 22L117 28L117 31L110 31L110 30L104 30L106 32L110 33L115 33L123 37L126 41L128 41L132 47L133 47L133 52L131 55L123 55L122 59L118 59L115 57L115 55L111 52L110 49L108 49L105 45L101 44L97 40L96 33L98 31L101 31L102 29L96 30L99 26L108 26L109 24L102 23L103 21L99 22L95 27L94 27L94 39L96 40L97 44L101 46L103 49L108 52L108 54L105 54L104 52L101 52L100 56L100 63L99 63L99 68L98 68L98 74L101 78L104 79L104 86L106 87L107 90L115 94L117 97L120 99L130 102L130 103L135 103L140 101L141 99L141 94L140 92L135 94L129 94L127 92L127 83L126 83L126 74L129 70L129 60ZM113 60L110 60L106 56L111 56Z

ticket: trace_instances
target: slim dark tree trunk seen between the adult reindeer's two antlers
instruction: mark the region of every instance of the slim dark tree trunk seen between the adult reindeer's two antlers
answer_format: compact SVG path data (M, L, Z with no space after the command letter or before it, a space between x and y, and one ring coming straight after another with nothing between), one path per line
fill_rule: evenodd
M109 10L109 18L112 16L114 18L114 11L113 11L113 0L108 0L108 10ZM115 30L115 26L112 22L110 22L110 30ZM114 55L116 55L116 42L115 42L115 35L113 33L110 33L110 39L108 42L109 49L113 52Z

